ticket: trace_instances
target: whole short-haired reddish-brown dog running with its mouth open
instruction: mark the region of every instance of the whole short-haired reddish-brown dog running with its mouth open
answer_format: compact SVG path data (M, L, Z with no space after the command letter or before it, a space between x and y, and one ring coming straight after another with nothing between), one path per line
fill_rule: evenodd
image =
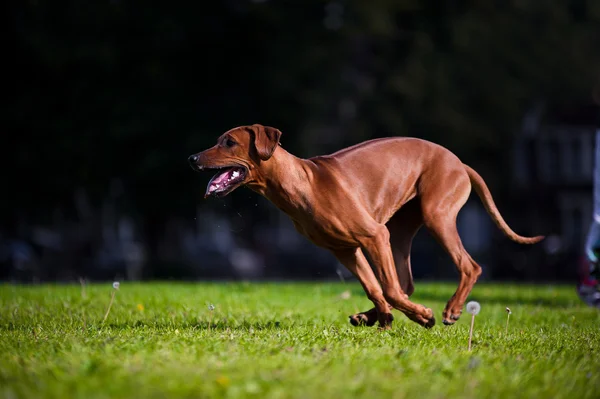
M381 328L389 328L392 308L422 326L435 324L431 309L408 299L414 291L410 247L421 225L448 252L460 274L442 314L444 324L458 320L481 274L456 230L456 216L471 185L510 239L533 244L544 238L513 232L481 176L437 144L408 137L375 139L300 159L279 145L280 137L273 127L237 127L221 135L214 147L190 156L189 162L197 171L217 170L205 197L223 197L246 185L285 212L301 234L330 250L375 305L350 316L354 325L379 321Z

